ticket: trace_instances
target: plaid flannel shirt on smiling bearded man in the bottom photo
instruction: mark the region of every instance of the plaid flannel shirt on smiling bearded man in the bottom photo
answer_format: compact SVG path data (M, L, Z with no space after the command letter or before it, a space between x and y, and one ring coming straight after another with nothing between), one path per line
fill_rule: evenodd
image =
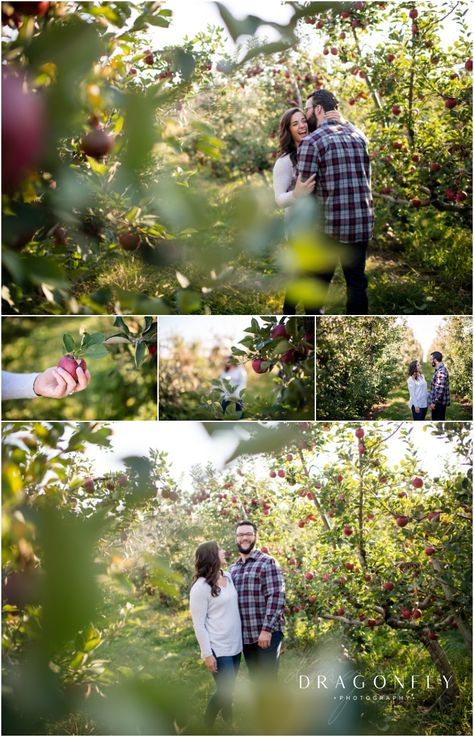
M257 642L262 630L283 631L285 582L276 560L253 550L245 562L239 558L231 565L229 573L239 596L244 645Z

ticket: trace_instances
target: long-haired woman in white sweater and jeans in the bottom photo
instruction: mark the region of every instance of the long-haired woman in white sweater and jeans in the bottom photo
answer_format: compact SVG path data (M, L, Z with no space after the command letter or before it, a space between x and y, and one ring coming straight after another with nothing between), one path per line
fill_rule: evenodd
M242 624L237 591L228 573L224 551L213 540L195 553L190 593L194 632L216 690L207 704L205 721L212 727L219 712L232 727L232 695L242 653Z

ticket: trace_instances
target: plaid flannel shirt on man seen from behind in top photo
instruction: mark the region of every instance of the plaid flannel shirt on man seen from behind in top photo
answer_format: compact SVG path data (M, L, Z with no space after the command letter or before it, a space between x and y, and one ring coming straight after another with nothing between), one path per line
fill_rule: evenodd
M324 213L324 230L341 243L372 238L374 204L367 138L351 123L325 121L303 138L297 173L316 174L314 196Z

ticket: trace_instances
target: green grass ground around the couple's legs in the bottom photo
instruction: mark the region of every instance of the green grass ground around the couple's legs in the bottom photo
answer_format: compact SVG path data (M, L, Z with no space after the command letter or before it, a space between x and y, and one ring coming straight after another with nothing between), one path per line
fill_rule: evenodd
M257 693L242 663L234 698L235 734L470 734L470 665L458 633L443 637L443 646L449 650L460 680L461 695L456 703L433 707L436 690L423 689L400 701L392 698L392 686L378 692L385 697L382 702L346 700L347 693L351 697L354 694L350 677L355 673L363 674L367 684L363 693L368 696L374 693L373 686L369 685L371 679L380 673L386 676L396 673L408 679L413 671L420 681L426 675L436 680L436 672L423 648L404 644L398 633L384 632L376 641L369 638L362 646L361 642L351 642L342 628L334 627L319 637L316 644L316 626L308 630L301 620L296 639L284 643L279 684L272 686L270 693ZM200 661L186 610L159 611L152 603L142 611L132 611L128 625L100 647L97 657L107 662L114 678L122 674L126 682L128 679L129 690L122 692L125 701L131 700L132 692L137 697L139 687L134 679L138 678L143 688L147 682L160 684L163 724L156 720L155 731L147 731L144 713L137 711L136 729L130 730L133 723L127 724L128 712L123 715L123 729L128 728L127 733L167 734L161 730L168 726L173 733L209 734L203 729L202 714L213 685ZM340 698L342 689L317 689L317 673L329 674L328 682L341 675L349 685L348 691ZM303 675L310 679L310 687L304 690L299 688ZM144 697L142 693L141 698ZM94 699L93 696L92 703L86 706L89 716L72 716L52 724L49 733L106 733L98 731L97 724L90 718L91 714L103 715L106 710L103 697L97 697L95 703ZM120 710L117 705L117 711ZM109 724L117 728L120 714L109 714L108 718ZM228 733L220 717L211 733Z

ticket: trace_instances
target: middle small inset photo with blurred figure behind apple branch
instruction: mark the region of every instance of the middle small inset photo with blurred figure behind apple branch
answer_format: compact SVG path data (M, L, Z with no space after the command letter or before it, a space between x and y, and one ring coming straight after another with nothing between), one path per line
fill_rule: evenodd
M314 419L314 317L160 317L159 419Z

